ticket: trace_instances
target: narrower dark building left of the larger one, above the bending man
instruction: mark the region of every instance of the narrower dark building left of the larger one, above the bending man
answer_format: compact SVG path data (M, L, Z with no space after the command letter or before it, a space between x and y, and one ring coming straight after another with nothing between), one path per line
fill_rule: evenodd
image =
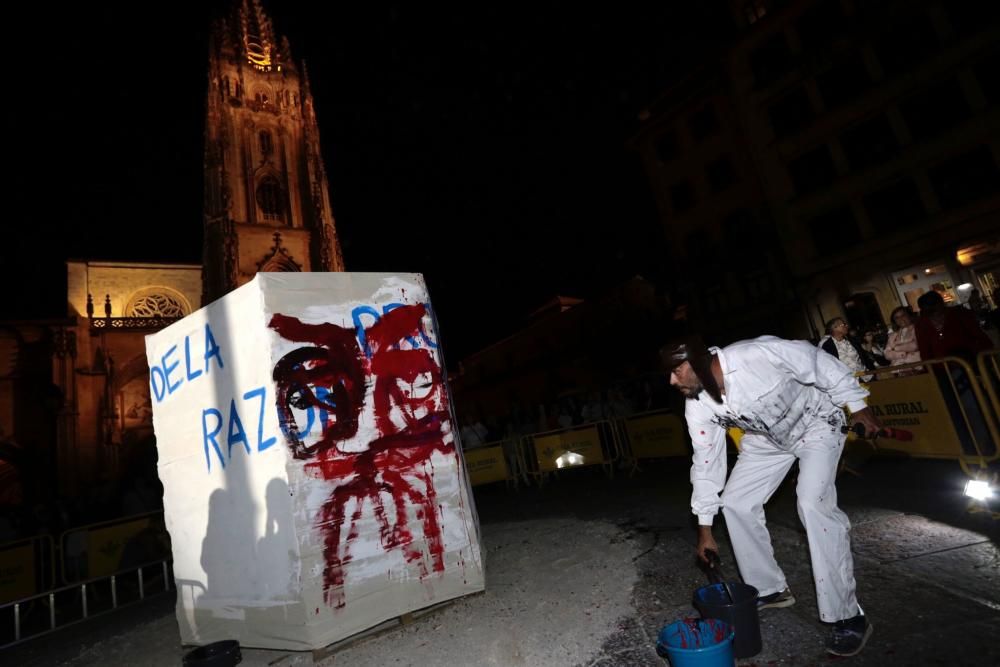
M722 63L666 91L633 138L663 221L673 301L719 342L801 325Z

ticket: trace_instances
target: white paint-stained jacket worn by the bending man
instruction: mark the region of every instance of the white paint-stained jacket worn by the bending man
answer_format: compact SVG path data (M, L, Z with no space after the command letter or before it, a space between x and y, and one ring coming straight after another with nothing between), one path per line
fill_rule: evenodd
M722 366L723 402L702 391L684 413L694 450L691 509L703 526L712 525L722 505L726 429L794 451L806 439L842 437L843 408L862 410L868 396L851 369L806 341L761 336L712 352Z

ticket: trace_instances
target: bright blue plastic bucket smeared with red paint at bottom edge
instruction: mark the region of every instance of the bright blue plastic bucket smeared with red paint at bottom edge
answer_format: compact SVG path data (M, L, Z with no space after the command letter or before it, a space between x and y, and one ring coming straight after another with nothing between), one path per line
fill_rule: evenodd
M685 618L660 630L656 653L673 667L733 667L733 629L717 618Z

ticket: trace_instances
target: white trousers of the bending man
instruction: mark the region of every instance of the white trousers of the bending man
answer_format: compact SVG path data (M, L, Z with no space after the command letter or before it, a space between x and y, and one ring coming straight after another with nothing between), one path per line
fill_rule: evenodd
M739 458L722 494L726 527L743 580L761 597L784 590L787 583L774 559L764 504L798 459L799 519L809 540L819 617L828 623L861 613L855 596L851 523L837 507L835 486L845 439L822 428L784 450L764 436L748 433L740 441Z

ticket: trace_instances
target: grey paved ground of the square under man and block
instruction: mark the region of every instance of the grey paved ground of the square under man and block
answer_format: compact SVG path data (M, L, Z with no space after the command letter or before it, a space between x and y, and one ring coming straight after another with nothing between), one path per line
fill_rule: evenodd
M793 481L769 504L768 525L798 602L762 613L764 648L741 665L843 660L823 651L828 628L817 620ZM861 476L841 478L860 599L875 625L850 664L1000 664L1000 523L966 512L963 482L957 464L905 460L869 461ZM518 493L477 489L486 593L322 664L663 665L653 650L659 629L695 614L691 594L705 582L694 565L689 494L683 461L612 480L573 470ZM0 661L177 665L183 655L172 600L163 598L9 649ZM244 650L249 665L311 662Z

